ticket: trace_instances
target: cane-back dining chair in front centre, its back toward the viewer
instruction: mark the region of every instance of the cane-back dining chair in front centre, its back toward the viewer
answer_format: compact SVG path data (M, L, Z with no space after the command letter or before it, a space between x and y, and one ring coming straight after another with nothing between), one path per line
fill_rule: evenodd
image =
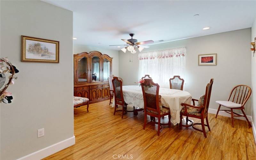
M159 95L159 85L154 83L152 79L145 79L141 83L143 99L144 99L144 125L145 129L147 124L147 115L150 116L151 121L149 123L158 124L157 135L159 136L160 130L162 129L161 125L168 125L171 127L171 112L170 108L166 108L162 105L161 95ZM167 124L161 123L161 117L167 116L169 121ZM153 118L154 117L154 118ZM158 122L155 121L155 117L158 118Z

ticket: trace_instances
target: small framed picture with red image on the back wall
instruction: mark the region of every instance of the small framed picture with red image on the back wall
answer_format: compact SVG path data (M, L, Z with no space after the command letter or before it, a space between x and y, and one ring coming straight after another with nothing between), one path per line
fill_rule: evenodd
M200 54L198 55L198 66L217 65L217 54Z

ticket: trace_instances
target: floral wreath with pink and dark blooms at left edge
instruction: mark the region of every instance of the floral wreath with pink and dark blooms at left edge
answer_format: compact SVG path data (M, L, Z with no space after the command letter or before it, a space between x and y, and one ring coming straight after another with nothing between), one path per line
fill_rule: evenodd
M18 77L15 76L15 73L18 73L19 70L12 65L12 63L6 58L0 58L0 89L3 87L5 83L5 74L10 73L8 76L9 81L4 85L4 88L0 90L0 102L11 103L13 97L11 92L7 92L6 89L9 85L14 84L14 80Z

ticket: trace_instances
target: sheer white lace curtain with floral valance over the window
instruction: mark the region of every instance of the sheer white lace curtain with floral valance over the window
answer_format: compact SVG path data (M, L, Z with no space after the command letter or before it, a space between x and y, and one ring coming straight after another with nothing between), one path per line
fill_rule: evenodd
M139 79L150 75L162 88L169 88L169 79L175 75L184 78L186 48L140 53Z

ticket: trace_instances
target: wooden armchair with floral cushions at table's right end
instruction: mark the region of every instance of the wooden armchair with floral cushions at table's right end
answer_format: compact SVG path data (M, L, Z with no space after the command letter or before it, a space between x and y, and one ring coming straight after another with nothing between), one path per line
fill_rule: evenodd
M180 129L182 129L182 126L184 126L182 125L182 116L198 118L201 119L201 123L194 123L192 124L192 127L197 131L203 132L204 137L207 138L204 126L207 126L209 131L211 131L208 122L208 108L212 92L212 84L213 79L211 79L210 83L206 85L205 94L202 95L199 100L192 99L193 105L181 103L181 106L184 107L180 111ZM195 105L195 101L198 101L197 106ZM206 124L204 124L204 119L206 119ZM202 130L195 128L195 125L202 125Z

